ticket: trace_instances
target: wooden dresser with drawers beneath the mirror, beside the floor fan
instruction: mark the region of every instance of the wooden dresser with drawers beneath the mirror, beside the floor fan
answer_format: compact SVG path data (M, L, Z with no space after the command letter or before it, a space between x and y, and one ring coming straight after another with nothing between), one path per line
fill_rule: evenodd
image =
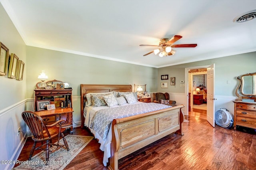
M236 126L256 129L256 102L234 100L234 130Z

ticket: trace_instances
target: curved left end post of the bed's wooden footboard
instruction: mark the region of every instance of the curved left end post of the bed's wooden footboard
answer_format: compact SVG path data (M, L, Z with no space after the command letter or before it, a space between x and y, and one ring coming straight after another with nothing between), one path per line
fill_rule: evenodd
M109 170L118 170L118 148L119 148L119 138L118 131L116 127L116 119L112 121L112 142L111 142L111 157ZM113 133L114 132L114 133Z

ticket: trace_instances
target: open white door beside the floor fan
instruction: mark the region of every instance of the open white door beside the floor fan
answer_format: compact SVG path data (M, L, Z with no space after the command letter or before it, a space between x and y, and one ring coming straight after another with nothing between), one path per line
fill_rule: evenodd
M215 64L207 68L207 121L215 127L215 104L217 100L214 95Z

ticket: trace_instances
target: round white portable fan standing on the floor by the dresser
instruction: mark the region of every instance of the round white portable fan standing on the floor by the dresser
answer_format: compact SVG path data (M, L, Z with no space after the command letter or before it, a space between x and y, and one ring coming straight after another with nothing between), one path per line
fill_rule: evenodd
M226 108L220 108L215 112L215 122L223 128L231 128L233 126L233 115Z

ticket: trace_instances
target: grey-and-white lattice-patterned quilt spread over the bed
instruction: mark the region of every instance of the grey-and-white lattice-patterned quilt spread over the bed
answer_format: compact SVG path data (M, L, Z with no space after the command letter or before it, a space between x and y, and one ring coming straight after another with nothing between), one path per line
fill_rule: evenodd
M90 128L94 129L104 141L107 137L108 130L113 119L135 116L138 114L153 112L170 107L172 106L165 104L141 103L98 110L92 118Z

